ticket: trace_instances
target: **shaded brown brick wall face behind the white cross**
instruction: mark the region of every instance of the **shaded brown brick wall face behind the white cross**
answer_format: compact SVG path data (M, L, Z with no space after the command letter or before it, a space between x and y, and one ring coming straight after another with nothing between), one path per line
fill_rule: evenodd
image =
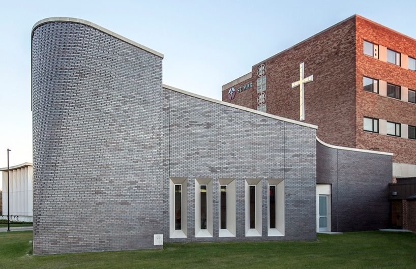
M266 64L267 112L299 121L299 65L305 62L305 122L317 125L323 141L355 147L355 19L280 52ZM256 109L257 65L252 67L251 106L245 99L233 103ZM245 93L248 95L248 93ZM226 96L225 96L226 97ZM223 101L228 102L228 98Z

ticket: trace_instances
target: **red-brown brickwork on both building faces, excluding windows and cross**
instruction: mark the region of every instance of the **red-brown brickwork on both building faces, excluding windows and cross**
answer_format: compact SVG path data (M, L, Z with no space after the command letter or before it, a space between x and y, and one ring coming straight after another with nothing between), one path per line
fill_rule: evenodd
M403 65L364 55L364 40L401 53ZM319 127L322 141L364 150L378 148L394 153L395 163L416 165L416 140L363 130L364 116L416 126L416 104L363 91L363 76L416 90L416 72L406 66L407 56L416 58L415 51L414 39L354 15L265 60L267 112L299 120L299 86L292 89L291 82L299 80L299 64L304 62L305 77L314 76L313 82L305 84L305 122ZM256 68L252 67L253 83ZM253 87L248 106L253 109L255 91ZM248 96L237 94L232 103L247 106Z

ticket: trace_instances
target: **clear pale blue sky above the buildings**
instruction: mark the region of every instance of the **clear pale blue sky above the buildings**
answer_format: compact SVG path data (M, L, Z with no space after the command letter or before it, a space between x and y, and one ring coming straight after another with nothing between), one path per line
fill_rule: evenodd
M353 14L416 38L414 1L0 0L0 167L7 148L10 166L33 160L31 32L41 19L81 18L161 52L164 84L220 100L223 84Z

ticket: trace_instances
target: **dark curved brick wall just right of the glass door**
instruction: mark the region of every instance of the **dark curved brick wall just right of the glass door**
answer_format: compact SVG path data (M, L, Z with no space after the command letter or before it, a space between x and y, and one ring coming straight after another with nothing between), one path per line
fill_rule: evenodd
M317 183L332 185L332 231L389 227L392 156L338 150L317 143Z

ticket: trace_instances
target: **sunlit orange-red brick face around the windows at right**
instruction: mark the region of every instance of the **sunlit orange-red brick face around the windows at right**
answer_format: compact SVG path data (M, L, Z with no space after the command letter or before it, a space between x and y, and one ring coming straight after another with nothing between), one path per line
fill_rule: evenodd
M414 39L364 18L356 18L356 147L394 153L396 163L416 164L416 140L363 131L364 116L416 126L416 104L363 91L363 76L416 90L416 72L364 55L364 40L416 58Z

